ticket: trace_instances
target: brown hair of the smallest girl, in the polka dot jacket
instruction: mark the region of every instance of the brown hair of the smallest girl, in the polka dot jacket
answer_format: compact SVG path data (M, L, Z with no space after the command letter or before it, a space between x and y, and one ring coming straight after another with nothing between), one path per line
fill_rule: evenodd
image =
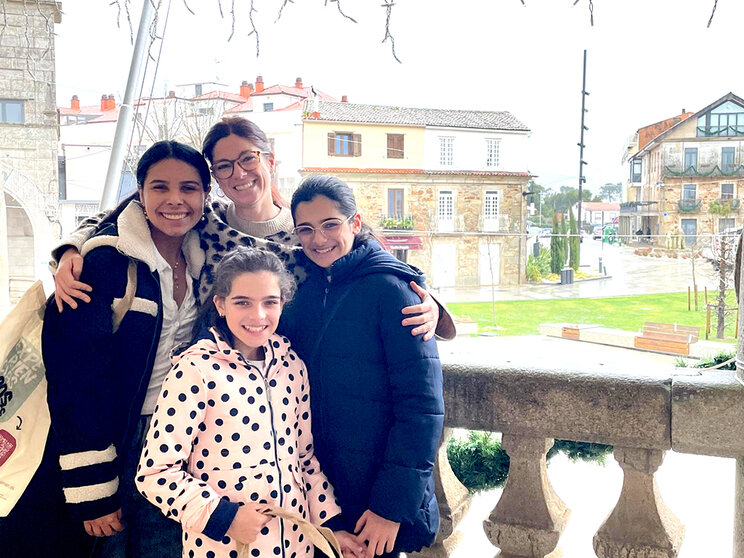
M209 328L214 327L223 339L231 346L235 346L235 339L227 327L227 320L220 317L213 298L214 296L222 299L227 298L236 277L243 273L257 273L259 271L268 271L277 277L283 304L292 300L297 290L297 284L276 254L258 248L237 246L228 252L217 265L209 298L199 311L199 316L194 324L194 340L208 337Z

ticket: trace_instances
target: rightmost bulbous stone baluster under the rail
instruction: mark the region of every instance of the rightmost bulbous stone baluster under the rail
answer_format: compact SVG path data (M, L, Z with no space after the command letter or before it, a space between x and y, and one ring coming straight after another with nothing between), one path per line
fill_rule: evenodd
M623 488L615 509L594 535L599 558L675 558L684 527L667 508L656 486L656 470L664 452L615 448L623 469Z

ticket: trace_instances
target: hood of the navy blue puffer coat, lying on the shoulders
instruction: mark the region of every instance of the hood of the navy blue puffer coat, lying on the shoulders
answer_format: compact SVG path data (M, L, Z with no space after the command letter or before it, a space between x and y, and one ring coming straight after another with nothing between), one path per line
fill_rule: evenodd
M372 239L336 260L330 268L324 269L318 266L315 268L317 273L323 277L330 275L334 281L343 281L349 277L358 279L375 273L388 273L406 282L415 281L422 287L426 285L426 275L420 269L401 262Z

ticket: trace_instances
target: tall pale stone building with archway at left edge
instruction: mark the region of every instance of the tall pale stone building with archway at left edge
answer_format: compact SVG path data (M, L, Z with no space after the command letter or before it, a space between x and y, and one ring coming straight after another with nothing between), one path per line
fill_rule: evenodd
M44 273L55 236L60 4L3 2L0 33L0 304Z

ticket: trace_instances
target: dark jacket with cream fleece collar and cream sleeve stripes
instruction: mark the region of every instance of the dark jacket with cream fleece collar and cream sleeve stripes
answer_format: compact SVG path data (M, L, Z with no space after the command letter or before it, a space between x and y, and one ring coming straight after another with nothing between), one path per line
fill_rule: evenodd
M194 278L204 263L189 232L184 255ZM162 304L155 247L141 206L132 201L82 247L80 280L93 287L76 310L47 304L42 354L52 430L60 448L65 499L79 519L119 509L122 448L133 434L160 338ZM130 260L137 285L116 333L112 305L124 296Z

